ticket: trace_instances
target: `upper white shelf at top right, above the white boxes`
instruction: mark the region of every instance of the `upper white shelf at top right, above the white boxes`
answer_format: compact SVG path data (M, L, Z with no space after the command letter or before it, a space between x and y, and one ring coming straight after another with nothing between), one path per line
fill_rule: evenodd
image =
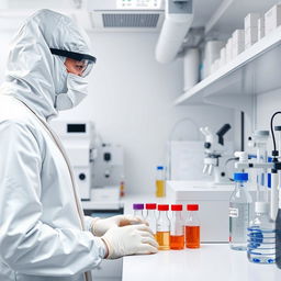
M249 12L265 13L276 3L276 0L223 0L206 23L205 34L229 35L234 32L234 26L244 29L244 18Z

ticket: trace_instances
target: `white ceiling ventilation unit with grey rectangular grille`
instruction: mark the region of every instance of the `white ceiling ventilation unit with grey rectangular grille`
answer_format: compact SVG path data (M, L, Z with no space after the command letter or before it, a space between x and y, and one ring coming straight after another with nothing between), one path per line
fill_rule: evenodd
M159 31L164 21L161 0L88 0L95 31Z

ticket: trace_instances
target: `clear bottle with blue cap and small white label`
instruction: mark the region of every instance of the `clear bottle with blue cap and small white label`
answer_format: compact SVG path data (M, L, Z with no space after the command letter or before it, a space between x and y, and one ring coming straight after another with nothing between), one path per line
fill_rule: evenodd
M234 180L236 186L229 200L229 245L234 250L246 250L251 203L251 196L245 187L248 173L236 172Z

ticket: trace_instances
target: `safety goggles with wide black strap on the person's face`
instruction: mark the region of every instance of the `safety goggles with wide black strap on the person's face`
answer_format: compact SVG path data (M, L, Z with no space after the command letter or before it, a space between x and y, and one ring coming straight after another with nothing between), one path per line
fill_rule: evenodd
M95 64L97 61L95 57L86 55L86 54L80 54L80 53L75 53L75 52L69 52L69 50L58 49L58 48L49 48L49 50L53 55L68 57L81 63L79 64L79 68L82 77L86 77L90 74L93 64Z

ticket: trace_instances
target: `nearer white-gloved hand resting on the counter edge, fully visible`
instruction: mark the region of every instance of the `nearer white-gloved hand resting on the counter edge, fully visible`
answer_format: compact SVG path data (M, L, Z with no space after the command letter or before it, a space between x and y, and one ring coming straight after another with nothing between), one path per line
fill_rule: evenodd
M158 243L145 224L112 227L102 237L108 246L108 259L117 259L134 254L155 254Z

